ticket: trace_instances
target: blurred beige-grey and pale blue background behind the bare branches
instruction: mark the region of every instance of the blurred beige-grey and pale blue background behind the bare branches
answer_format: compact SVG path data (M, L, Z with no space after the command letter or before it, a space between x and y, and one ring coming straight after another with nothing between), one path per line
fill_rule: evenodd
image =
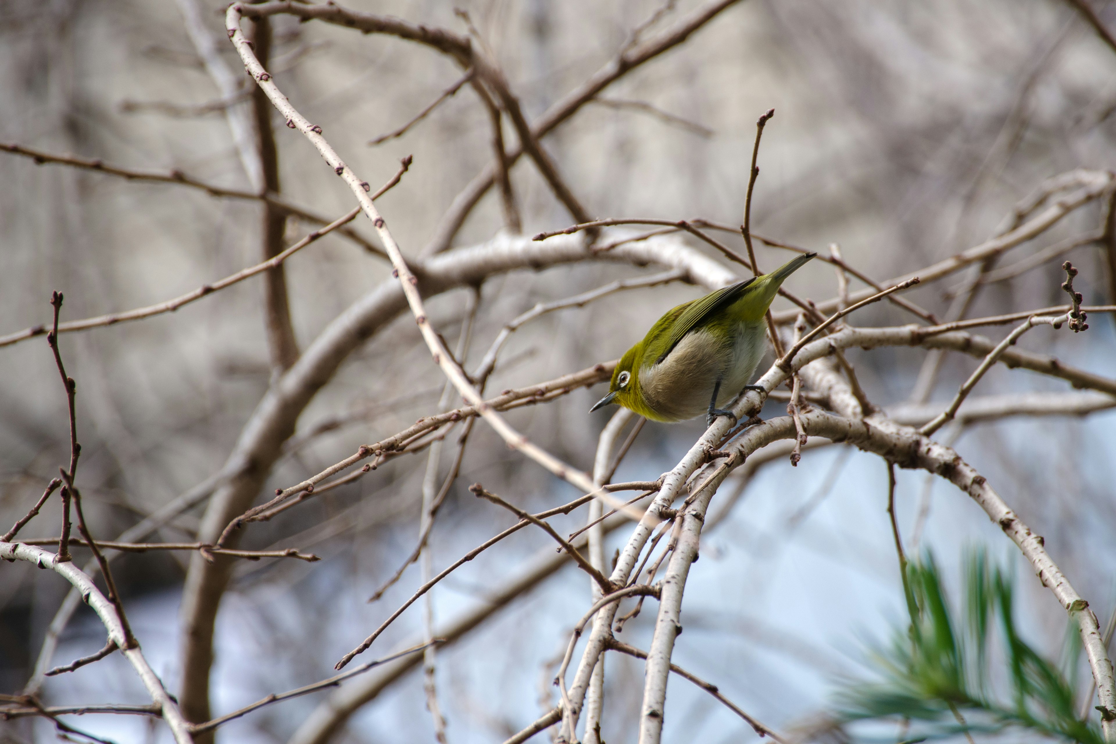
M224 6L199 3L221 56L239 70L224 38ZM122 167L179 168L208 183L250 189L223 110L186 110L221 94L201 65L181 4L0 2L0 142L100 157ZM1094 4L1116 28L1116 4ZM347 6L468 30L449 2L350 0ZM635 27L664 8L658 0L460 0L459 6L503 66L528 118L612 59ZM648 33L670 28L696 7L667 3ZM437 98L460 70L394 38L287 16L273 18L273 30L269 69L280 88L321 124L330 144L374 187L395 172L401 157L414 155L402 183L377 205L404 253L419 255L454 195L491 160L488 114L477 96L464 87L405 136L368 146ZM240 75L237 83L247 89L249 78ZM811 250L838 243L850 264L881 281L981 242L1042 180L1077 167L1109 168L1116 152L1116 51L1060 0L850 0L839 7L744 0L603 97L545 139L590 214L739 224L756 119L775 108L760 152L754 230ZM276 116L283 197L330 219L352 209L345 184ZM516 142L510 129L506 138ZM525 233L571 223L529 162L513 168L512 181ZM1096 229L1103 206L1078 210L1013 255ZM371 236L364 222L358 218L354 225ZM502 222L493 190L455 244L483 242ZM287 242L312 228L289 220ZM51 290L65 293L64 320L131 309L256 263L259 243L257 202L39 166L0 153L0 334L48 321ZM786 257L758 250L761 267ZM1087 303L1116 301L1103 248L1083 245L1066 258L1081 271L1076 287ZM386 262L337 235L286 265L302 348L389 279ZM583 264L489 281L466 367L475 367L504 322L536 302L654 271ZM990 284L969 315L1060 303L1061 280L1056 261ZM960 276L910 297L942 313L950 305L946 292L958 282ZM834 272L817 261L790 284L819 301L836 292ZM488 389L521 387L614 359L664 310L700 293L668 284L545 316L512 337ZM175 313L62 336L61 352L78 384L79 484L94 534L118 534L224 463L271 375L261 298L262 283L253 279ZM466 290L430 301L435 327L451 342L468 302ZM878 303L855 322L894 325L908 318ZM1116 370L1112 317L1090 317L1089 325L1081 335L1038 329L1021 345L1110 377ZM911 398L924 357L917 349L849 354L879 405ZM302 414L298 446L288 447L267 490L296 483L359 444L432 413L443 378L429 359L410 318L378 334ZM950 399L975 365L970 357L947 355L930 399ZM527 407L509 419L558 456L590 468L607 415L586 410L600 389ZM1001 367L977 393L1064 389L1068 386L1058 380ZM764 416L782 413L782 404L769 403ZM345 425L316 433L337 416L346 417ZM654 480L701 431L698 422L648 424L616 479ZM1114 434L1113 413L1008 419L951 433L959 436L962 456L1045 535L1052 558L1101 624L1116 602ZM27 511L68 452L66 399L46 340L0 349L0 524ZM451 455L446 447L443 473ZM238 567L218 619L214 714L329 676L339 655L414 591L415 567L384 599L365 603L414 545L425 462L424 454L398 458L248 531L248 547L298 547L324 560ZM434 528L436 568L490 537L494 525L512 523L509 514L477 503L466 490L475 481L531 510L575 495L479 425ZM807 452L797 468L786 460L763 466L703 540L704 560L690 574L686 634L675 660L766 724L780 731L807 726L843 680L865 674L866 642L884 638L903 618L886 487L883 461L840 446ZM730 481L714 500L714 512L732 491ZM908 541L924 509L929 516L908 549L933 549L953 579L968 545L987 545L998 560L1017 563L1024 636L1045 653L1059 654L1066 615L1000 530L947 483L901 472L898 523ZM183 515L161 539L192 540L200 513ZM55 534L58 522L52 500L21 537ZM556 520L559 531L581 522L581 512ZM625 537L625 530L613 533L606 554ZM478 606L501 577L551 550L541 533L518 533L435 590L436 618ZM160 552L124 555L115 569L135 631L172 690L180 674L177 605L185 560ZM0 692L18 692L27 680L67 588L58 576L27 563L0 567ZM565 569L440 654L450 741L499 742L548 709L557 695L549 686L555 657L588 603L588 581ZM622 638L645 647L653 621L654 611L645 610ZM415 608L377 647L386 653L419 627ZM102 626L83 608L55 664L103 642ZM604 737L610 744L634 742L642 663L609 656L607 664ZM1086 679L1084 665L1076 674L1078 682ZM146 702L119 655L48 680L42 695L50 704ZM263 708L223 727L219 738L285 742L324 695ZM167 740L161 724L131 716L86 716L75 725L119 742ZM44 721L0 724L0 732L15 742L55 736ZM753 734L708 695L672 679L665 736L734 742ZM336 741L432 741L421 676L412 673L392 686Z

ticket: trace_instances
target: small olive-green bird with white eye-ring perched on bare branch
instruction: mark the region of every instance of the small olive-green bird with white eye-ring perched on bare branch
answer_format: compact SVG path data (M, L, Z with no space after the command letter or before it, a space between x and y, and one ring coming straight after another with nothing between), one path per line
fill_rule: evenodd
M730 284L670 310L620 357L608 395L641 416L680 422L732 416L728 405L745 389L763 357L764 313L783 280L817 253L804 253L771 273Z

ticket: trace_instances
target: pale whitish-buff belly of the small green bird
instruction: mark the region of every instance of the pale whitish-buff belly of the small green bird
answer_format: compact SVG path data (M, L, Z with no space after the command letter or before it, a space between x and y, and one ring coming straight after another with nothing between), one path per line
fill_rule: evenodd
M709 331L687 334L662 363L639 370L639 387L661 421L684 421L709 410L721 380L716 406L729 404L751 381L767 349L763 323L741 323L731 344Z

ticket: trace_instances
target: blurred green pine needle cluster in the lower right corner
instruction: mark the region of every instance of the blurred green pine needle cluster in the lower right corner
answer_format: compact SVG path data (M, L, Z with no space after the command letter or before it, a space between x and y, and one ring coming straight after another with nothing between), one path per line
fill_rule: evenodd
M1020 638L1008 571L990 566L983 551L970 554L963 615L951 608L932 554L905 572L910 626L874 649L876 680L841 693L841 721L905 721L908 742L1017 728L1103 744L1099 726L1077 717L1066 674ZM1076 635L1070 639L1072 669L1080 647Z

